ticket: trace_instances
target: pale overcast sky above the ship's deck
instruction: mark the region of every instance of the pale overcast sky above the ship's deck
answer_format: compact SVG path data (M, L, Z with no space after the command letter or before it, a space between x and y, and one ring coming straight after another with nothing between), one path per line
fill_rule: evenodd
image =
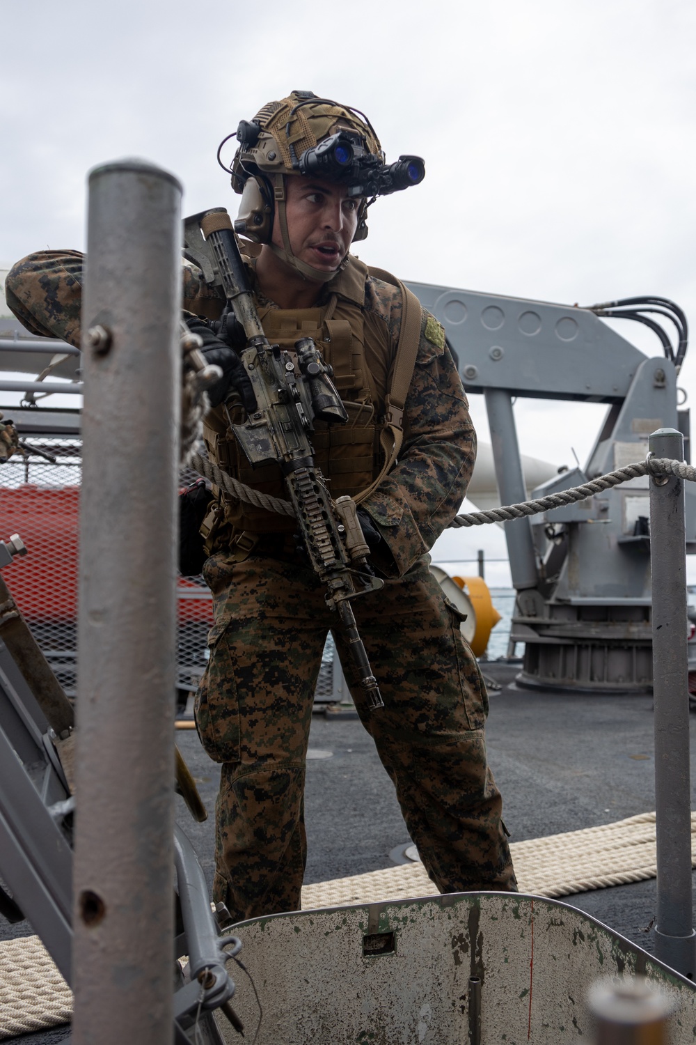
M234 210L218 142L301 88L364 110L387 161L426 160L421 186L371 209L368 263L549 301L658 294L696 321L693 2L0 0L0 260L81 248L86 173L118 157L174 171L187 213ZM693 352L679 384L696 392L695 377ZM584 463L603 415L515 409L522 450L556 464L573 449ZM472 413L487 438L481 397ZM439 557L504 555L486 530L450 534Z

